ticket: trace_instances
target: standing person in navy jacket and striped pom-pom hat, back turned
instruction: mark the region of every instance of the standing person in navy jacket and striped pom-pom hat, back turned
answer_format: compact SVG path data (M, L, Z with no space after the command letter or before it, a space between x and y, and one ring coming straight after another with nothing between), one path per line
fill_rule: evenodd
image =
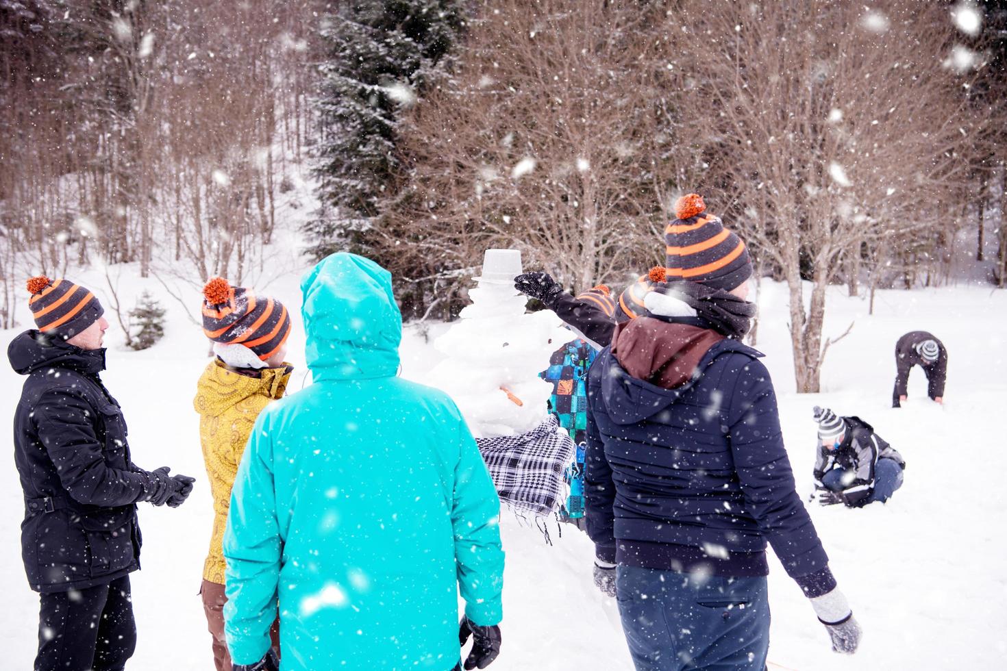
M852 653L860 628L796 491L769 372L740 342L748 254L704 210L678 201L665 277L588 374L595 582L618 598L637 671L762 671L768 540L833 649Z

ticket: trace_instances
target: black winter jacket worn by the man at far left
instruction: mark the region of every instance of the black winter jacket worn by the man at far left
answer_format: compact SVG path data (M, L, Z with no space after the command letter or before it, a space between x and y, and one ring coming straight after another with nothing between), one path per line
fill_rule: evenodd
M130 460L122 409L98 376L105 350L25 331L7 356L27 376L14 411L14 463L31 589L84 590L136 570L134 504L149 498L156 479Z

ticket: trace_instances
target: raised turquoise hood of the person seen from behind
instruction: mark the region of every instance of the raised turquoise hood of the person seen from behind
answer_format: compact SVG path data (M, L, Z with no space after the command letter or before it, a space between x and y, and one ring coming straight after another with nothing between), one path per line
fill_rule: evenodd
M392 274L343 251L301 280L305 357L312 379L390 377L399 371L402 315Z

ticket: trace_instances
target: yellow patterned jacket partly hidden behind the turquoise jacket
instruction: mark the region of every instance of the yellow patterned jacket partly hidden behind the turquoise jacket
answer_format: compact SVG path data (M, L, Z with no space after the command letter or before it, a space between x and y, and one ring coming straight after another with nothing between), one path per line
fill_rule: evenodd
M202 576L224 584L224 529L231 506L231 488L256 417L269 401L283 396L293 368L263 368L261 377L249 377L214 360L199 377L195 405L199 413L199 441L213 496L213 535Z

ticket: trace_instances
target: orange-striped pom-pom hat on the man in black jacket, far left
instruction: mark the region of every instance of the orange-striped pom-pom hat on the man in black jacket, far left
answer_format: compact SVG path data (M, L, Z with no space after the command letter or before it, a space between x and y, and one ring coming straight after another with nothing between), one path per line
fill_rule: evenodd
M69 280L49 280L44 275L28 280L31 316L43 333L63 340L73 338L105 314L95 295Z

